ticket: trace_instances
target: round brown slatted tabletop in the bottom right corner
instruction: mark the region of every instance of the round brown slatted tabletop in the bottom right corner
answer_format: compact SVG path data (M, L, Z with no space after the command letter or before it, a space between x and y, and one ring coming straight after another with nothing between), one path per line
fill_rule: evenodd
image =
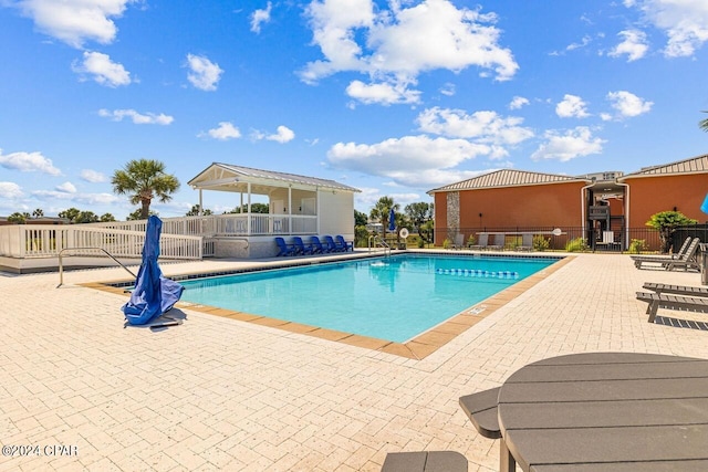
M553 357L499 391L500 470L708 470L708 360L650 354Z

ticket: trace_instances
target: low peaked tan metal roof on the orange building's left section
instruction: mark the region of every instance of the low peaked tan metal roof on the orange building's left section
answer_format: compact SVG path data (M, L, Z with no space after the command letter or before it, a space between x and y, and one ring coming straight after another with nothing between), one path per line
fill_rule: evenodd
M590 182L589 179L582 177L561 176L556 174L530 172L528 170L501 169L493 172L483 174L461 182L450 183L429 190L428 193L456 190L476 190L485 188L499 187L519 187L519 186L537 186L545 183L564 183L564 182Z

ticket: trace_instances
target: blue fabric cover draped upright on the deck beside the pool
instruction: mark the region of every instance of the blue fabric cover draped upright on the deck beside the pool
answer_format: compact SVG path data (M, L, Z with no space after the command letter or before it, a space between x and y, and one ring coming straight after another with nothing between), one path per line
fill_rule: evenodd
M165 279L157 264L162 231L163 221L155 216L149 217L143 245L143 262L135 280L135 290L128 303L121 308L132 325L147 324L150 319L168 312L179 301L185 290L177 282Z

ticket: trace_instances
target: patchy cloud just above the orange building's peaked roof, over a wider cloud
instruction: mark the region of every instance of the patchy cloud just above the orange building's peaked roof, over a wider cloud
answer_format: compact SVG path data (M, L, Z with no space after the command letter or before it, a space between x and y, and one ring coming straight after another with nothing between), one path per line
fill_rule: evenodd
M425 133L490 145L491 158L504 157L509 154L506 146L514 146L533 137L530 128L520 126L523 118L504 118L496 112L475 112L468 115L461 109L434 107L421 112L416 122Z

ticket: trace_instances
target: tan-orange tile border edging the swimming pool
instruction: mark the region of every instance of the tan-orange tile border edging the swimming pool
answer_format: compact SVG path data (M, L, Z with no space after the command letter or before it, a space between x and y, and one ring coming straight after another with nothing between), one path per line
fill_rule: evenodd
M455 253L450 252L435 252L436 254L445 254L450 255ZM461 255L461 254L460 254ZM466 254L467 255L467 254ZM485 256L509 256L509 254L485 254ZM523 255L523 258L529 258L528 255ZM532 256L533 258L533 256ZM522 281L517 282L512 286L486 298L466 310L460 312L459 314L448 318L447 321L440 323L437 326L426 331L423 334L419 334L415 338L406 342L406 343L393 343L385 339L378 339L375 337L362 336L352 333L339 332L335 329L321 328L316 326L304 325L295 322L288 322L284 319L272 318L262 315L254 315L250 313L236 312L226 308L219 308L209 305L195 304L190 302L177 302L175 304L176 308L184 310L192 310L196 312L205 313L212 316L220 316L229 319L236 319L246 323L253 323L261 326L267 326L275 329L282 329L294 334L301 334L306 336L317 337L320 339L326 339L337 343L347 344L351 346L362 347L371 350L378 350L386 354L392 354L399 357L405 357L408 359L420 360L429 356L430 354L438 350L440 347L445 346L450 340L455 339L460 334L465 333L470 327L475 326L477 323L485 319L487 316L494 313L500 307L504 306L507 303L514 300L517 296L521 295L565 264L570 263L575 259L573 255L559 256L537 256L533 259L558 259L558 261L548 268L525 277ZM302 265L311 265L313 261L304 261L299 263L285 264L285 265L277 265L272 266L272 269L284 269L291 266L302 266ZM267 268L270 269L270 268ZM230 275L237 273L244 272L256 272L262 271L263 266L259 268L246 268L233 271L218 271L214 273L208 273L208 275ZM176 281L180 280L191 280L197 277L204 277L205 274L185 274L177 275L170 277ZM88 289L101 290L104 292L110 292L113 294L121 294L124 296L128 296L129 292L125 290L126 286L133 285L134 281L113 281L113 282L91 282L81 284L82 286Z

